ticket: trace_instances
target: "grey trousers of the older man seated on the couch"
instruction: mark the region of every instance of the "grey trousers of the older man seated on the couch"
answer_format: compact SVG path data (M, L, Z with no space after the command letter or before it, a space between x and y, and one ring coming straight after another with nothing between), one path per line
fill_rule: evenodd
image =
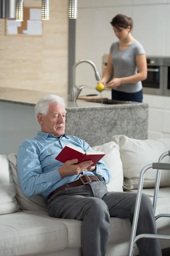
M136 193L108 192L103 182L94 181L57 192L47 206L51 217L82 220L84 256L105 256L110 217L128 218L132 223L135 202ZM142 194L136 234L141 233L157 234L153 207L145 194ZM137 247L140 256L162 255L159 239L139 239Z

